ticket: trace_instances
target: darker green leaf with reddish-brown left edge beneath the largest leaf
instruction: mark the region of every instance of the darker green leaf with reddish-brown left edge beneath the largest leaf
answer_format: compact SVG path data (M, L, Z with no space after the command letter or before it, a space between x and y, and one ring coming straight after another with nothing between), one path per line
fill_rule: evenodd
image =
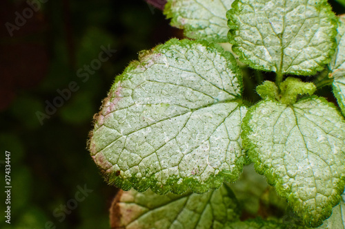
M239 218L237 201L228 186L204 194L157 195L151 190L119 191L112 204L112 228L223 228Z

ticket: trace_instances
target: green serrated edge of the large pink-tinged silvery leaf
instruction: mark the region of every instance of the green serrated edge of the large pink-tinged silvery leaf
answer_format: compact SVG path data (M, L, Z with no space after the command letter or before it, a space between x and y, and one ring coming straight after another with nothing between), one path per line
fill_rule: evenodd
M139 61L132 61L132 63L130 63L130 65L126 67L124 72L115 78L115 83L112 85L108 93L108 97L105 100L103 100L101 111L103 110L103 107L106 104L106 101L109 100L110 97L112 96L112 91L116 91L117 82L119 82L120 80L126 79L127 77L126 73L130 72L131 69L137 68L138 65L145 65L144 60L145 60L146 54L157 54L161 52L161 50L168 49L171 45L188 46L188 45L193 45L193 44L204 45L206 49L216 50L217 52L219 52L219 54L221 54L228 60L228 67L230 69L233 69L235 73L235 77L237 78L239 82L239 88L242 94L243 83L242 83L242 77L240 77L242 76L242 74L240 72L239 67L236 64L235 57L230 52L224 51L224 49L216 43L208 43L208 41L205 41L205 40L191 41L189 39L183 39L183 40L170 39L166 43L157 45L155 48L152 48L152 50L141 52L141 54L143 55L141 56L139 55ZM234 100L230 100L226 102L237 102L238 103L237 109L241 109L241 107L246 107L244 105L245 102L242 102L242 98L235 98ZM99 115L94 116L94 125L97 123L98 118L99 118ZM95 156L97 153L92 154L92 141L91 141L92 135L93 135L93 130L89 134L90 140L88 140L88 149L90 150L92 157L94 157L94 160L96 160ZM203 182L202 184L195 181L195 179L193 179L192 177L188 177L188 178L172 177L166 180L166 184L162 185L155 178L155 174L151 175L150 177L146 177L146 179L143 179L143 178L138 179L136 177L136 174L132 174L132 177L130 178L123 179L119 177L120 171L114 170L114 168L110 166L112 164L108 162L108 160L106 160L106 158L103 157L103 155L101 157L101 163L108 165L108 166L102 167L96 163L105 181L112 186L117 186L118 188L121 188L122 190L130 190L130 188L135 188L135 190L139 192L144 192L148 188L151 188L152 191L160 195L164 195L168 193L169 191L175 194L181 194L181 193L186 192L187 190L192 190L193 193L201 194L201 193L206 193L210 189L219 188L221 184L223 184L224 181L235 182L235 180L238 179L240 173L242 173L242 168L244 164L248 164L248 159L246 158L246 155L242 155L241 157L237 159L236 164L239 169L237 169L237 171L233 171L235 175L229 174L227 173L227 171L220 171L217 175L210 176L206 180L206 182Z

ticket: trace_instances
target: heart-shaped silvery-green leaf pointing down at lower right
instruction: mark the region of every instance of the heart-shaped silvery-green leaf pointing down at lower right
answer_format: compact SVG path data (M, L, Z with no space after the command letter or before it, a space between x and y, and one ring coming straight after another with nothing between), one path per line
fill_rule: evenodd
M244 148L306 226L320 226L344 190L345 121L324 98L259 102L242 124Z

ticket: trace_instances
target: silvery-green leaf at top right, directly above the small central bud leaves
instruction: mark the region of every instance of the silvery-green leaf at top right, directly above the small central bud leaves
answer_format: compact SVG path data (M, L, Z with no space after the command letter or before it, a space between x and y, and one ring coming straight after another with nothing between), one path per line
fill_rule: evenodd
M279 75L311 75L335 49L335 15L326 0L237 0L227 13L240 61Z

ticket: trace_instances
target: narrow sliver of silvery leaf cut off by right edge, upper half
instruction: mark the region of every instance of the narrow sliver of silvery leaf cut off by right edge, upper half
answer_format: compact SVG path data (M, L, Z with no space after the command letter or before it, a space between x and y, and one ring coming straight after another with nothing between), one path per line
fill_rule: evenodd
M345 19L339 17L337 28L337 50L332 58L329 67L331 69L330 76L333 80L333 94L337 98L339 107L345 115Z

